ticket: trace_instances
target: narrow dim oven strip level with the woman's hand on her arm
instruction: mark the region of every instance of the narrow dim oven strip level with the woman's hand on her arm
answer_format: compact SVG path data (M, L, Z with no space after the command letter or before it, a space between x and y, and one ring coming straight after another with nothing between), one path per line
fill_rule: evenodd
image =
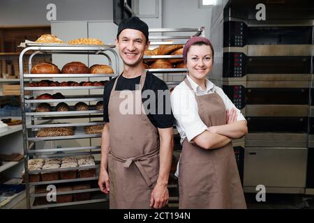
M246 105L246 116L306 117L308 105Z

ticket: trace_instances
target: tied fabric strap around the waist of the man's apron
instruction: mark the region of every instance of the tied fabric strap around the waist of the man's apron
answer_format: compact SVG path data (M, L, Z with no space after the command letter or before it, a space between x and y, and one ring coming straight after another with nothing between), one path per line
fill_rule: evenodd
M109 151L109 155L111 155L112 158L114 158L114 160L117 160L118 162L124 162L124 168L130 167L130 164L134 162L135 166L140 171L140 174L144 178L148 187L150 187L153 183L151 182L151 179L149 178L147 171L145 171L140 161L146 160L149 157L154 157L155 155L158 155L158 154L159 154L159 149L155 149L154 151L151 151L149 153L138 155L137 157L129 157L126 159L126 158L121 158L121 157L118 157L117 155L114 155L114 153L112 153L111 150Z

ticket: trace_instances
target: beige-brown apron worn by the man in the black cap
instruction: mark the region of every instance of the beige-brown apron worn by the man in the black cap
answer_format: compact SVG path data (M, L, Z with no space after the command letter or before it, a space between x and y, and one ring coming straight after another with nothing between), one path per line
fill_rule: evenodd
M110 208L150 208L159 171L159 136L142 106L145 78L143 70L140 89L124 91L134 99L133 111L142 111L140 114L121 114L120 106L126 98L120 98L122 91L115 90L118 78L110 94Z

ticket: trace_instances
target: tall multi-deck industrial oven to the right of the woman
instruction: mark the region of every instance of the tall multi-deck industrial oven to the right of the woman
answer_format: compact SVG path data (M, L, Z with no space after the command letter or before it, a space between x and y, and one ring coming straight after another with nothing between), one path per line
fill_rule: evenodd
M266 20L255 18L258 3ZM209 79L248 122L244 191L314 192L314 2L234 0L214 10Z

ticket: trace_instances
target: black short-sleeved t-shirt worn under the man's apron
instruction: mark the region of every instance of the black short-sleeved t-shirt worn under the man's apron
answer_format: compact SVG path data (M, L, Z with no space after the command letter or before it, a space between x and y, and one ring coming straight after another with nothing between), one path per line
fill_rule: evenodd
M116 91L123 91L123 90L135 91L136 84L140 84L140 78L141 76L135 77L135 78L125 78L122 75L120 75L117 81ZM104 103L103 121L106 123L110 122L109 115L108 115L108 105L109 105L109 100L110 100L110 94L114 86L114 81L116 79L117 77L114 77L113 79L111 79L110 82L106 84L104 92L103 92L103 103ZM156 128L172 127L174 123L174 116L171 111L170 97L166 97L162 95L163 93L167 93L169 95L167 84L165 84L165 82L163 82L162 79L159 79L158 77L153 75L151 72L147 72L142 92L145 90L154 91L155 96L156 96L156 100L154 100L154 105L156 105L156 110L155 110L156 112L149 112L149 111L153 111L150 108L150 106L147 106L147 107L144 106L147 117L149 118L149 121L151 121L151 123ZM143 104L149 98L150 98L149 96L142 97ZM153 103L151 103L151 105L153 105ZM158 110L158 107L160 111Z

